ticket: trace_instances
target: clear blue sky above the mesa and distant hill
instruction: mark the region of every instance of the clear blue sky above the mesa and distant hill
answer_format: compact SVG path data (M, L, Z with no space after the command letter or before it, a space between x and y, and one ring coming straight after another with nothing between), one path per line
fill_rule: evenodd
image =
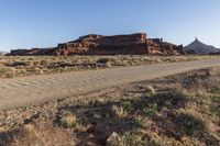
M220 0L0 0L1 50L135 32L220 47Z

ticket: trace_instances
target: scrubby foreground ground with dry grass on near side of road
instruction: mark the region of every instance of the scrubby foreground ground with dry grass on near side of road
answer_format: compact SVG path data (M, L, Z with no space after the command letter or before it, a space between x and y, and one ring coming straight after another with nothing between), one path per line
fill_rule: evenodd
M30 144L26 139L37 137L36 144L43 138L36 125L42 125L41 132L51 131L58 138L65 134L62 139L76 145L218 146L219 79L220 68L202 69L2 111L0 144ZM36 112L37 117L33 116ZM30 115L28 125L32 126L26 133L24 117ZM51 126L42 124L45 120Z

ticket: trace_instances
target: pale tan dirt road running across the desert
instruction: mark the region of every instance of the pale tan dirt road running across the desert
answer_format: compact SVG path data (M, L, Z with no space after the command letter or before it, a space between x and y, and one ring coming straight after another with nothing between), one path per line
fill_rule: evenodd
M0 110L215 66L220 59L0 79Z

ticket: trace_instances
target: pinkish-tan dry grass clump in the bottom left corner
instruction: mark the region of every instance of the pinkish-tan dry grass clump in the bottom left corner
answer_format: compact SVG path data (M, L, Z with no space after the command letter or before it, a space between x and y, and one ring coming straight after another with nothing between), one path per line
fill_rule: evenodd
M53 125L53 123L36 123L0 133L2 146L73 146L77 138L70 132Z

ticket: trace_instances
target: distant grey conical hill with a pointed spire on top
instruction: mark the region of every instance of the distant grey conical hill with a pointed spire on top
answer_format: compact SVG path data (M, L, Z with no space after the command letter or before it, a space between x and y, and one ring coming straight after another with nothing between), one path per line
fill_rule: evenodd
M206 45L196 38L193 43L184 47L184 50L187 54L198 54L198 55L209 55L209 54L218 54L220 53L219 48L216 48L211 45Z

